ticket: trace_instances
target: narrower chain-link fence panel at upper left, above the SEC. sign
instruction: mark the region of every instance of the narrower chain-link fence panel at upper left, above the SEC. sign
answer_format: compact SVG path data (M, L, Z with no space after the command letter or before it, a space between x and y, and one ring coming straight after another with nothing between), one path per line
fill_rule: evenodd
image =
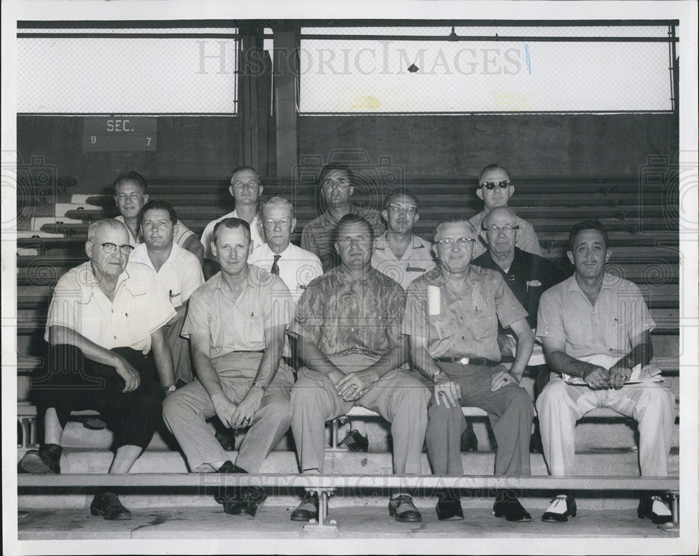
M237 112L237 29L134 31L51 29L49 33L20 33L17 112Z

